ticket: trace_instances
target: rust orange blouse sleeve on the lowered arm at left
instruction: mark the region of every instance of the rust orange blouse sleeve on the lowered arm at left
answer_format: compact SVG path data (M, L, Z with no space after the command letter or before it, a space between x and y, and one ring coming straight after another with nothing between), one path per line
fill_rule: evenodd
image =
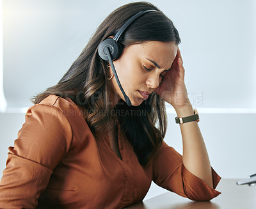
M0 182L0 208L36 208L52 170L67 153L72 130L58 107L29 108Z

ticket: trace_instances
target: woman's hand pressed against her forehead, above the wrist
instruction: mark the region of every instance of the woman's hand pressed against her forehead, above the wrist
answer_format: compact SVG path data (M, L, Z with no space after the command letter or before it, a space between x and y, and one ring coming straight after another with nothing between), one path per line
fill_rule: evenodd
M171 70L166 72L163 81L155 89L157 95L171 104L174 109L184 108L191 105L184 82L184 67L178 47L177 55L172 63Z

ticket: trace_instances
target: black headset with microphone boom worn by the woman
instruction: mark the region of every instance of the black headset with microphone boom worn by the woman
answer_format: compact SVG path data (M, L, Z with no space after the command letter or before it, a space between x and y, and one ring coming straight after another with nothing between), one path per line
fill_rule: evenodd
M140 17L141 15L148 13L148 12L157 12L157 10L145 10L145 11L136 13L136 15L132 16L129 20L127 20L127 22L125 22L124 26L122 26L120 28L120 30L116 33L114 38L106 38L106 40L104 40L103 42L101 42L99 44L99 48L98 48L98 53L99 53L100 58L104 59L105 61L109 61L111 68L113 70L113 73L115 75L116 82L117 82L119 88L121 89L121 91L124 95L124 98L125 98L125 102L127 103L128 106L131 106L131 100L129 99L129 97L127 97L127 95L125 95L124 89L122 88L120 81L118 79L118 76L116 74L116 70L115 70L113 61L118 59L119 56L122 54L122 46L118 42L120 36L124 33L125 29L127 29L127 27L134 20L138 19L138 17Z

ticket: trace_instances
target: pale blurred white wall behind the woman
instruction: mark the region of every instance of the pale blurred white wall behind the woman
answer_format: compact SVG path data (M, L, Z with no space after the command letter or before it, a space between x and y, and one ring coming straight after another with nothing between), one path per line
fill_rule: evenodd
M7 109L0 114L0 171L8 146L24 123L24 110L32 105L29 98L56 84L100 22L130 2L3 0L0 92L3 86ZM200 113L199 125L212 167L223 178L256 173L256 2L149 2L170 17L179 31L186 86ZM167 106L165 140L182 153L179 126L172 107ZM163 191L152 185L147 198Z

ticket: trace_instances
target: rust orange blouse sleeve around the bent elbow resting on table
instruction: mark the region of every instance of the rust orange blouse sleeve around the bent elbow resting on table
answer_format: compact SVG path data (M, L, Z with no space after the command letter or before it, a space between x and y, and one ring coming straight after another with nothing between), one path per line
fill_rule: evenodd
M212 169L213 188L190 173L182 163L182 156L163 142L153 164L153 181L172 192L196 201L209 201L221 192L215 190L220 176Z

